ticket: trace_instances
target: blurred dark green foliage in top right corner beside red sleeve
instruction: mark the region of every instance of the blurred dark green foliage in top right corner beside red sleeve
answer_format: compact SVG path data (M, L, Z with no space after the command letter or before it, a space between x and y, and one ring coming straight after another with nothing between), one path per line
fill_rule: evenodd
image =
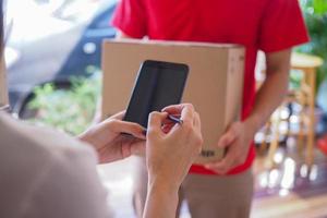
M300 1L311 43L298 48L298 51L319 56L324 65L317 73L317 88L327 75L327 0Z

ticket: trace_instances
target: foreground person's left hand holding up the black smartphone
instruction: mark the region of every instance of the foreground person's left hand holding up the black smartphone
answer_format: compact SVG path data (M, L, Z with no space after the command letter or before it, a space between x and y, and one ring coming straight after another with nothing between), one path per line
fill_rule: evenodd
M78 136L80 140L94 146L100 164L123 159L145 150L144 128L137 123L122 121L123 117L124 111L119 112Z

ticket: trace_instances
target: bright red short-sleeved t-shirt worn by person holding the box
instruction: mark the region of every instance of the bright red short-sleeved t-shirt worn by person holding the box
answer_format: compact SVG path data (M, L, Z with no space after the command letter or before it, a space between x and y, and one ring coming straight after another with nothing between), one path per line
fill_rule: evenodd
M308 40L298 0L122 0L112 23L134 38L245 46L242 119L254 105L258 49L274 52ZM250 146L246 161L229 174L249 169L254 158ZM191 172L215 174L197 165Z

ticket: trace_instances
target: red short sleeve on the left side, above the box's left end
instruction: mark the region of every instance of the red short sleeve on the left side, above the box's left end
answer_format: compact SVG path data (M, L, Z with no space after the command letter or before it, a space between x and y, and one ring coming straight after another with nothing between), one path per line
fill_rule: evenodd
M113 14L112 25L133 38L146 35L146 10L143 0L121 0Z

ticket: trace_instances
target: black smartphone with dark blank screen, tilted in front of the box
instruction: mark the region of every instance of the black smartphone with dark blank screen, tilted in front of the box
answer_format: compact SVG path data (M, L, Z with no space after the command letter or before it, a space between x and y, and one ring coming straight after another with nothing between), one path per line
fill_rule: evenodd
M189 66L183 63L144 61L124 120L147 128L150 112L181 102L187 74Z

